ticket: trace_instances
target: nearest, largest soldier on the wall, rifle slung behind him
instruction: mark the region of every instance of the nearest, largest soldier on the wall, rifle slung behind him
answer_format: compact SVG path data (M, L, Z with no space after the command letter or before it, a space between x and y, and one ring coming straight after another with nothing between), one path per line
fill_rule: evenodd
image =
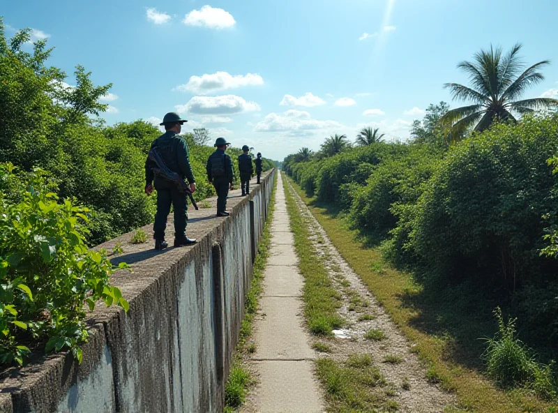
M158 153L169 170L177 172L182 179L188 179L192 193L196 190L196 183L190 158L188 156L188 144L178 134L184 119L174 112L165 114L161 126L165 126L166 132L160 135L151 144L151 149L157 148ZM153 191L153 171L156 165L149 160L145 163L145 193L150 195ZM167 216L170 206L174 207L174 246L186 246L196 242L186 236L186 220L188 219L188 204L186 196L176 187L176 185L160 177L155 178L155 188L157 190L157 213L155 223L153 223L153 238L155 239L155 249L163 250L168 244L165 241L165 227L167 227Z

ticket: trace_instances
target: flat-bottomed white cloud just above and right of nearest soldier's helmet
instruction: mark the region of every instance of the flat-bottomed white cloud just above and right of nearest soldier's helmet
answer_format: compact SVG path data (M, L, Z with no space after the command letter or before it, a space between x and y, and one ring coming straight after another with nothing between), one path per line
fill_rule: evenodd
M259 105L235 95L194 96L186 105L176 105L175 109L179 113L231 115L259 110Z

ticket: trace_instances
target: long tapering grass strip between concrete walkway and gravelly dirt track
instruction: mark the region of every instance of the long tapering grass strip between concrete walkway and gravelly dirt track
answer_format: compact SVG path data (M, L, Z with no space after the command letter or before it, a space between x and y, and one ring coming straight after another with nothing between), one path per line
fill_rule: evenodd
M299 207L287 187L286 179L283 180L283 187L294 234L294 247L299 256L299 270L305 280L302 299L308 329L315 336L331 336L331 331L344 324L344 320L337 314L342 297L335 290L324 262L316 259L317 254L310 241L308 224L301 216Z

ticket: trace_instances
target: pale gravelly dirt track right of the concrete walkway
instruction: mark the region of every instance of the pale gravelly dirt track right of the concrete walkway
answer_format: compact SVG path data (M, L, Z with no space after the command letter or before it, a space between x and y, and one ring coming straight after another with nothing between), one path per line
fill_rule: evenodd
M330 278L335 288L342 293L339 314L347 320L347 327L334 331L336 337L327 340L333 347L332 354L328 356L336 361L345 361L349 354L370 354L372 362L391 383L391 398L398 403L398 412L443 412L444 407L453 405L453 396L428 382L425 374L427 368L418 361L405 336L341 257L322 226L290 185L289 191L308 223L310 239L317 254L325 258ZM382 331L385 339L365 338L365 333L370 329Z

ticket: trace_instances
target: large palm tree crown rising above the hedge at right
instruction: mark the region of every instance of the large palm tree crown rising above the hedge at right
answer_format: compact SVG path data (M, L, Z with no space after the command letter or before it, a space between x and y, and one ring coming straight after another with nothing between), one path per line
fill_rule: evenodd
M451 140L462 137L473 127L481 132L495 121L515 121L512 113L522 115L558 106L558 100L550 98L517 100L528 87L544 80L537 70L550 63L539 61L520 74L525 67L518 56L521 47L518 43L503 55L501 47L495 50L490 46L490 50L474 54L473 62L458 64L469 75L471 87L446 83L444 88L450 89L454 100L472 100L473 105L450 110L440 119Z

